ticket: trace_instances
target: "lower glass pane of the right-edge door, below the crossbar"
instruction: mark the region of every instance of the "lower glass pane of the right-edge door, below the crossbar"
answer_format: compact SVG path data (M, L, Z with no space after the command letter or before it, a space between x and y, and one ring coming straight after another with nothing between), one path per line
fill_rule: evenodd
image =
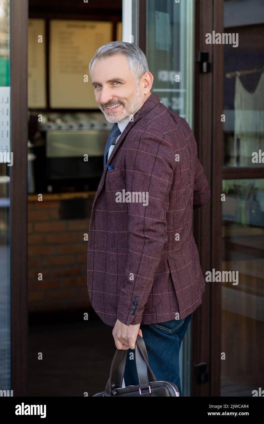
M222 182L222 396L252 396L264 371L264 180Z

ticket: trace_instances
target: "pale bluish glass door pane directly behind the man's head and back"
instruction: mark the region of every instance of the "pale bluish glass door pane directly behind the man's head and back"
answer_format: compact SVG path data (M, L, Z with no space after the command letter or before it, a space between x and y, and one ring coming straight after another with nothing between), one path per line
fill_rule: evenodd
M194 1L147 0L145 31L145 54L154 76L151 92L192 128ZM192 321L180 350L183 396L190 396L191 331Z

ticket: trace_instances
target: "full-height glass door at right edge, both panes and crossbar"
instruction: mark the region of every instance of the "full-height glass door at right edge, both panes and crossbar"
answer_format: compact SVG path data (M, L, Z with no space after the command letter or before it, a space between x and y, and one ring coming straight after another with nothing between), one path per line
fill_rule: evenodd
M221 287L221 396L253 396L264 377L263 2L226 0L224 32L239 45L224 46L222 271L232 281Z

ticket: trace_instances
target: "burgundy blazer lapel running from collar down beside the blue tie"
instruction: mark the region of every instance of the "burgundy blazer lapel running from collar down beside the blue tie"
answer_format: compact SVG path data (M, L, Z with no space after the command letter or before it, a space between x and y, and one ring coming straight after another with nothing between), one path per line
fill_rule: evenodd
M140 120L142 117L144 117L145 114L147 114L147 112L149 112L151 109L153 109L153 107L155 107L159 102L160 102L160 98L158 98L158 96L155 93L153 93L152 95L150 95L150 97L147 98L147 100L143 104L142 108L139 109L139 111L134 114L134 116L133 116L134 120L133 121L130 121L128 123L128 125L125 127L125 129L122 132L122 134L120 135L120 137L119 137L116 145L114 146L114 150L112 151L112 153L111 153L108 161L106 162L106 166L105 166L105 169L103 170L103 175L102 175L102 177L100 179L100 183L99 183L99 186L98 186L96 195L94 197L93 204L95 204L95 201L96 201L97 197L99 196L99 194L100 194L100 192L101 192L101 190L103 188L103 185L104 185L104 182L105 182L105 179L106 179L106 173L107 173L107 170L108 170L108 165L110 165L110 163L113 160L114 156L117 154L117 151L118 151L119 147L122 145L122 142L124 141L126 135L131 130L131 128L133 127L133 125L138 120Z

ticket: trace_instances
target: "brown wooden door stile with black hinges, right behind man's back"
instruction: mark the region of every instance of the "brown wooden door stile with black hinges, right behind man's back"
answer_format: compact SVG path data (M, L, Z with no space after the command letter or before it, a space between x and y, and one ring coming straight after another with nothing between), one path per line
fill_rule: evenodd
M195 53L209 53L209 63L212 61L212 45L206 45L205 34L212 31L212 1L195 1ZM211 189L211 87L212 73L201 73L200 63L195 62L194 84L194 135L197 142L197 154L203 165L203 170ZM212 192L212 190L211 190ZM194 236L200 255L203 275L211 269L211 199L194 212ZM195 310L192 318L192 366L206 363L206 371L210 372L210 287L206 284L203 301ZM200 384L192 372L192 396L208 396L210 377L207 383Z

